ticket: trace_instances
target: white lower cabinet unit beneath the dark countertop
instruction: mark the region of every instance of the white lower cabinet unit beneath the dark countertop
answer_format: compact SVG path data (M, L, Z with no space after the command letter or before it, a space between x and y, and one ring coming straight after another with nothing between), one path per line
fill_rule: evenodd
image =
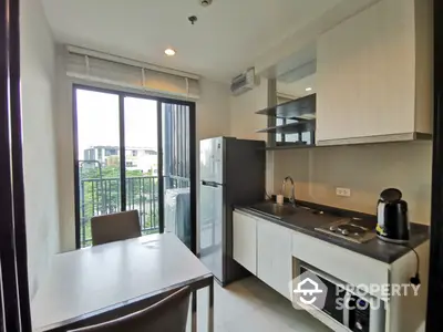
M234 211L233 222L234 259L289 300L289 282L296 267L292 264L298 264L299 260L352 286L409 284L409 279L415 273L416 258L412 251L388 264L241 211ZM380 332L416 332L424 326L429 241L415 251L420 256L422 277L418 297L412 291L389 299L379 292L372 293L385 301L385 329ZM323 321L323 315L313 315L328 326L333 325ZM344 328L334 331L344 331Z

